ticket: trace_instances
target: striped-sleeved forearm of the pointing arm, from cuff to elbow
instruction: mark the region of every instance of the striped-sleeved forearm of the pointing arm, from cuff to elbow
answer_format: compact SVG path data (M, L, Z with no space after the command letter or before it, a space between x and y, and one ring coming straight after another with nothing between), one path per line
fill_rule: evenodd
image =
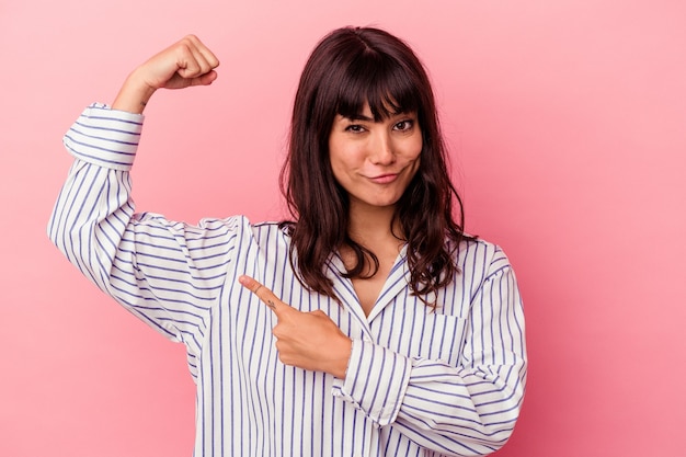
M348 374L334 395L423 447L478 456L494 452L510 437L524 376L522 359L499 368L466 369L355 341Z

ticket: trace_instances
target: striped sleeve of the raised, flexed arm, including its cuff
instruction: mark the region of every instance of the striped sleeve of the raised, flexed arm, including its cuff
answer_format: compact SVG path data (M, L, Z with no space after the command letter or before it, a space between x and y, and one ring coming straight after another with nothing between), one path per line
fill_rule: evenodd
M129 170L144 117L89 106L65 135L75 157L48 236L91 282L174 341L197 343L224 284L231 221L136 214ZM199 344L199 343L197 343Z

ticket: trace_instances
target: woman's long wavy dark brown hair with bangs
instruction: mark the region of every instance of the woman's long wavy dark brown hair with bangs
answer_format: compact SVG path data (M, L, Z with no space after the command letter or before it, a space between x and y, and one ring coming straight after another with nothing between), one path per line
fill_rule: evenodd
M282 222L291 236L291 265L308 289L336 300L325 269L341 247L350 247L357 259L354 267L341 272L344 276L370 277L378 271L374 252L348 236L348 195L334 179L329 159L336 114L354 118L367 103L375 121L401 112L418 116L423 136L420 165L396 205L395 221L402 228L397 236L408 243L412 293L434 307L424 297L459 273L455 259L466 238L462 203L448 175L426 71L405 43L379 28L331 32L302 70L281 173L282 192L295 220ZM365 272L371 273L365 276Z

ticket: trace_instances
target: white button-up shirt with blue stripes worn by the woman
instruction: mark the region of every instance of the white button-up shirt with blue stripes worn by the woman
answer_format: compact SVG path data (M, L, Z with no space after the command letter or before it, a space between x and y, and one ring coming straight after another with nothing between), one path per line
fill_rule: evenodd
M89 106L65 136L76 160L48 233L122 306L183 342L197 386L199 456L472 456L511 435L524 398L524 315L503 251L458 251L461 274L430 298L408 286L404 250L369 316L341 259L327 275L342 305L310 293L276 224L197 226L136 214L129 170L142 116ZM301 311L323 310L353 340L344 379L286 366L276 318L238 284L250 275Z

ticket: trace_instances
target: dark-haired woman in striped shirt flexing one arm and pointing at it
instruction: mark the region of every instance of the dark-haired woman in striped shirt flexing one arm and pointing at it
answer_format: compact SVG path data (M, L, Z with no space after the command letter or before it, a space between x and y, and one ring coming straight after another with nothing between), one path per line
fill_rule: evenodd
M186 345L195 455L501 447L524 396L522 304L503 252L454 220L415 55L376 28L315 48L282 173L293 221L136 214L146 104L161 88L210 84L218 65L187 36L134 70L111 107L87 108L65 136L76 162L48 228L99 287Z

